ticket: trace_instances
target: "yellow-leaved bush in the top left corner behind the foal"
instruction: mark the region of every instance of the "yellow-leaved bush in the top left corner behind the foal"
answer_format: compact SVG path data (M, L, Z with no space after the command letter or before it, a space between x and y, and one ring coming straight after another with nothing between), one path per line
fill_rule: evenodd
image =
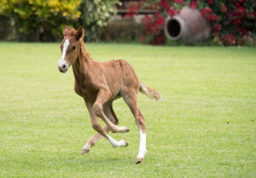
M51 0L1 0L0 30L5 29L8 36L5 39L20 39L26 41L55 41L62 38L64 24L73 25L79 20L81 12L78 1Z

